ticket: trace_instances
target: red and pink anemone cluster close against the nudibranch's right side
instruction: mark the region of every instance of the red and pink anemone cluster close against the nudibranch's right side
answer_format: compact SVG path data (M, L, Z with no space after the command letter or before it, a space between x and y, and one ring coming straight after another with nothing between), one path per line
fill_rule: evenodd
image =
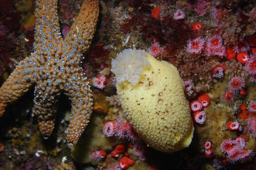
M203 124L206 120L205 111L202 108L209 106L210 98L206 93L199 95L197 100L190 102L190 109L192 110L192 117L195 122Z

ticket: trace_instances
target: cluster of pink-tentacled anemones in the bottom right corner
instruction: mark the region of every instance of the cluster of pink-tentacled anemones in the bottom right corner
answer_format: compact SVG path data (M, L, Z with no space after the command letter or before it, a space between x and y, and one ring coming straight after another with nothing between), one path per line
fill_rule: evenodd
M220 144L223 153L227 153L227 159L229 162L234 163L236 161L245 161L252 155L251 150L245 150L245 139L238 136L235 139L223 140Z

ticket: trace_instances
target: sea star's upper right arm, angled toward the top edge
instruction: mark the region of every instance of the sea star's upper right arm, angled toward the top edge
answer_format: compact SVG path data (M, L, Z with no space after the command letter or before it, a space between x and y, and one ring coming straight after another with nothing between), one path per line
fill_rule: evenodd
M96 30L98 16L99 0L84 0L64 42L78 51L87 51Z

